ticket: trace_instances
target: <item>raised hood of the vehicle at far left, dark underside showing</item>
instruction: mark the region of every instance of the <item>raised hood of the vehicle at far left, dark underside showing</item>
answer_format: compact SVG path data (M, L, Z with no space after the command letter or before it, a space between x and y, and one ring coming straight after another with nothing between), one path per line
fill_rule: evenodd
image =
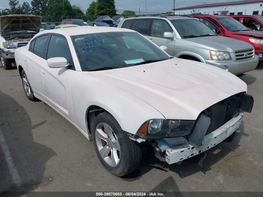
M40 31L41 16L7 15L0 16L0 34L12 31Z

